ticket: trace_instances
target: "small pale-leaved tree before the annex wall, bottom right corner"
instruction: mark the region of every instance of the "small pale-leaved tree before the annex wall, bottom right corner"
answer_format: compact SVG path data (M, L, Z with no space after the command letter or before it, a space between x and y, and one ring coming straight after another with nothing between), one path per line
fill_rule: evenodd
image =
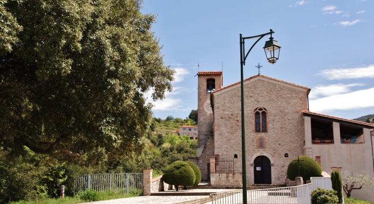
M347 197L350 197L352 190L362 189L364 186L370 186L374 183L374 178L369 176L366 172L362 174L358 173L348 173L345 171L343 173L343 190Z

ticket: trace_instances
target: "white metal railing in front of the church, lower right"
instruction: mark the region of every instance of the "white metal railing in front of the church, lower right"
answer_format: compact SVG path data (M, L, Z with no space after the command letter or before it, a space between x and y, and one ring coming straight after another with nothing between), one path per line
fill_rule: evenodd
M310 204L310 193L317 187L331 190L331 180L326 177L311 177L311 183L294 187L258 189L247 191L248 203L305 203ZM212 204L243 203L243 191L212 193Z

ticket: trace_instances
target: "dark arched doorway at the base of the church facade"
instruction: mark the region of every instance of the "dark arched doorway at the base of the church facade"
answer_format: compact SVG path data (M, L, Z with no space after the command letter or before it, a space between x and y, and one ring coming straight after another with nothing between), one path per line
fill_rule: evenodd
M272 184L272 167L270 159L266 156L258 156L254 160L255 184Z

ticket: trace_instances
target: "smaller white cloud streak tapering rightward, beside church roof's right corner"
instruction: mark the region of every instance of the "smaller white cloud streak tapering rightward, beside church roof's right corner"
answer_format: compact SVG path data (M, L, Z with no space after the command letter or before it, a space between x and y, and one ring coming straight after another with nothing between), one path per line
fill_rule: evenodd
M311 89L309 93L309 99L317 99L321 96L332 96L337 94L343 94L350 92L350 87L356 86L364 86L364 84L356 83L356 84L332 84L332 85L318 85Z

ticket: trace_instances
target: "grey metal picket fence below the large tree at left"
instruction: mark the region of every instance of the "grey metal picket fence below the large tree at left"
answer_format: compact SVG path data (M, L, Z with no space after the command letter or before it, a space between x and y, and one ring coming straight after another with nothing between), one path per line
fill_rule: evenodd
M123 194L143 194L142 173L88 174L76 179L75 195L79 191L92 189L97 192L115 192Z

